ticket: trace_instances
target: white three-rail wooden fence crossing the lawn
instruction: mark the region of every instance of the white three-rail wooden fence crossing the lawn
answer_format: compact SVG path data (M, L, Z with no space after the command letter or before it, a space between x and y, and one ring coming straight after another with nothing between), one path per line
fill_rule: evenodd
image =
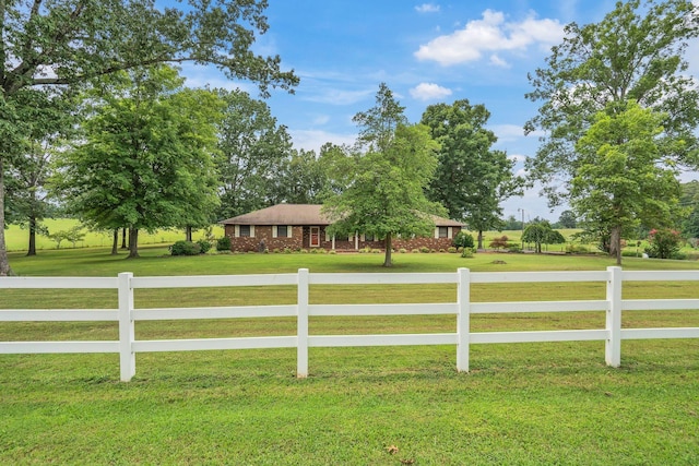
M32 321L114 321L119 325L119 339L109 342L0 342L0 354L48 353L118 353L122 381L135 374L135 354L152 351L189 351L246 348L297 348L297 377L308 374L309 347L455 345L457 370L469 371L469 346L485 343L604 340L605 360L618 367L623 339L642 338L699 338L699 327L679 328L621 328L621 311L636 310L699 310L699 299L621 299L624 282L699 282L699 271L688 272L625 272L608 267L599 272L477 272L460 268L455 273L377 273L334 274L309 273L301 268L296 274L273 275L213 275L186 277L134 277L121 273L117 278L84 277L3 277L2 288L107 288L118 290L118 309L45 309L0 310L0 322ZM498 283L606 283L606 299L574 301L507 301L471 302L471 284ZM311 285L389 285L389 284L455 284L457 302L448 303L377 303L377 304L310 304ZM139 309L134 307L133 290L138 288L193 288L228 286L297 287L297 303L287 306L216 307ZM574 285L571 285L574 286ZM1 296L1 295L0 295ZM603 311L605 328L537 332L476 332L470 331L471 314L502 312L574 312ZM319 315L407 315L454 314L455 333L439 334L380 334L380 335L309 335L309 316ZM269 337L199 338L199 339L135 339L134 322L179 319L232 318L288 318L297 319L296 335Z

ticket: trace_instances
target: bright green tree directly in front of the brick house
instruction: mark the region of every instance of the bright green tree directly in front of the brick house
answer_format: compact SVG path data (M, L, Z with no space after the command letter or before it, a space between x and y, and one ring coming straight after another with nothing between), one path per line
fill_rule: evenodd
M443 207L424 193L437 166L438 144L427 127L404 124L402 109L381 84L376 107L354 118L360 126L357 147L367 152L347 154L342 165L352 167L350 183L323 206L333 220L331 235L363 231L382 238L386 267L392 265L394 236L428 235L435 228L429 214L443 215Z

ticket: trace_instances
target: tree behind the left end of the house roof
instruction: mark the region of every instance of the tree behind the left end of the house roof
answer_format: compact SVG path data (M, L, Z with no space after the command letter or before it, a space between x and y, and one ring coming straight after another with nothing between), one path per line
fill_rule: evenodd
M228 218L274 204L283 166L291 156L286 127L270 107L242 91L217 91L226 103L218 124L222 192L220 217Z

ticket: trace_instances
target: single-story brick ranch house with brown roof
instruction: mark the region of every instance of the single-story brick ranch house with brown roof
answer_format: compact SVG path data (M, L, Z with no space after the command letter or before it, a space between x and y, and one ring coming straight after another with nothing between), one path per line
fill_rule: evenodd
M364 248L381 249L381 238L357 231L343 238L331 237L327 227L331 222L321 213L318 204L277 204L271 207L238 215L223 220L225 235L230 238L232 251L260 251L268 249L283 251L313 248L353 251ZM441 217L435 218L435 234L428 238L394 238L395 250L447 249L463 224Z

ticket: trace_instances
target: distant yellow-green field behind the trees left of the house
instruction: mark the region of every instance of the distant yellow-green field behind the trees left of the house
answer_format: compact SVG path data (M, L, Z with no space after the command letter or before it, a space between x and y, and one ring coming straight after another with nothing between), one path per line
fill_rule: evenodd
M43 222L49 232L56 232L61 230L69 230L75 225L80 225L80 222L72 218L48 218ZM221 238L223 236L223 227L220 225L214 225L213 235L216 238ZM86 228L85 238L82 241L79 241L75 247L76 248L107 248L111 247L111 232L106 231L90 231ZM20 228L16 225L11 225L10 228L5 230L5 243L8 251L26 251L28 248L29 241L29 232ZM205 236L205 231L203 229L197 230L193 232L193 239L198 240ZM173 243L177 240L185 239L183 230L157 230L153 234L149 234L147 231L139 231L139 244L164 244L164 243ZM121 236L119 236L119 241L121 241ZM72 248L73 244L69 241L61 242L61 249ZM46 236L38 235L36 237L36 249L56 249L56 241L47 238Z

